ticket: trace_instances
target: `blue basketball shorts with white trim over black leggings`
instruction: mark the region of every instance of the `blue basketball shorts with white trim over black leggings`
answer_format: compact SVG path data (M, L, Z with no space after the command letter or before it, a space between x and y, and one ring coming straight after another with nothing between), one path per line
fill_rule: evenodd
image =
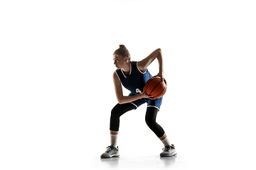
M134 94L129 94L129 96L134 96ZM156 98L156 100L153 100L153 99L150 99L150 98L139 98L138 100L132 101L131 103L136 107L139 107L144 103L147 103L148 107L155 107L155 108L158 108L160 110L162 100L163 100L163 97Z

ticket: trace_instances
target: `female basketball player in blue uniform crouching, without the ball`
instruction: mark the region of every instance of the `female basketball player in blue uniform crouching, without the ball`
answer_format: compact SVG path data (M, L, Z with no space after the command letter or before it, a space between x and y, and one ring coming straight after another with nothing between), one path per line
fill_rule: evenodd
M139 62L132 62L129 51L124 45L114 51L113 60L117 67L113 73L114 90L117 96L117 105L111 111L110 117L110 146L107 151L101 155L102 158L118 157L119 149L117 147L117 135L119 130L119 118L127 111L131 111L147 103L146 124L159 137L164 144L164 152L161 157L171 157L176 154L174 145L171 145L163 128L156 123L156 114L161 106L161 98L151 99L144 91L146 81L152 76L146 67L157 58L159 62L159 74L156 76L164 79L163 57L161 49L154 50L148 57ZM123 96L122 85L131 91L129 96Z

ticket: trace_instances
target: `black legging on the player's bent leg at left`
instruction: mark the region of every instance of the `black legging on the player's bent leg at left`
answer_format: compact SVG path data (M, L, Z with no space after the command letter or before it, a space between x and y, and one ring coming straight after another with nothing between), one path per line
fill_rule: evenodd
M117 103L114 108L112 108L111 116L110 116L110 130L118 131L119 130L119 123L120 123L120 116L126 113L127 111L131 111L135 109L132 103L124 103L119 104Z

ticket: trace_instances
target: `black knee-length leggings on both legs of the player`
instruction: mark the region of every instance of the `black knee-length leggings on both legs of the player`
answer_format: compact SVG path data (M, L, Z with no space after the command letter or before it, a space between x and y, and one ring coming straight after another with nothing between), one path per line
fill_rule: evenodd
M110 117L110 130L118 131L119 130L119 118L121 115L126 113L127 111L131 111L136 109L132 103L117 103L116 106L111 111ZM158 113L158 109L154 107L146 108L146 125L156 134L157 137L162 137L164 135L164 130L161 126L156 123L156 115Z

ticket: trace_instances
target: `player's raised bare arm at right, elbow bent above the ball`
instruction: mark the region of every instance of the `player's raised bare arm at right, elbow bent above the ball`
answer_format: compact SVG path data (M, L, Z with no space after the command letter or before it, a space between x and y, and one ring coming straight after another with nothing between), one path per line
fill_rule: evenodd
M164 62L163 62L163 57L161 53L161 49L156 49L154 52L152 52L148 57L144 58L144 60L138 62L138 67L142 72L146 71L146 67L151 64L155 59L157 58L159 62L159 74L156 76L161 77L161 79L164 78Z

